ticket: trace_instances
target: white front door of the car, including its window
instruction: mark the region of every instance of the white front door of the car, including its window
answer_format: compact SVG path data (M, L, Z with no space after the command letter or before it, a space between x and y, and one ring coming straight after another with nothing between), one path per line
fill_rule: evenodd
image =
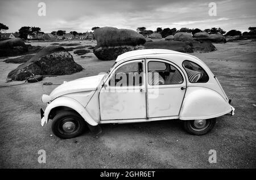
M100 91L101 121L146 118L144 59L122 63Z

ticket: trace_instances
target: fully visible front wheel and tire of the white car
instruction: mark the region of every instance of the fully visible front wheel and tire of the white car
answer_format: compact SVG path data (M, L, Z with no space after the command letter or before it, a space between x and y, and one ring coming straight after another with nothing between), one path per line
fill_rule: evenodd
M75 138L84 132L86 123L81 115L73 111L61 111L52 122L52 132L62 139Z

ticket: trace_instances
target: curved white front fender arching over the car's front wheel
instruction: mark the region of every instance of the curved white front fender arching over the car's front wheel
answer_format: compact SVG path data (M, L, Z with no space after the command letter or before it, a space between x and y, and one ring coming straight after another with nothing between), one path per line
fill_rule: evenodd
M51 110L58 106L66 106L68 108L75 110L77 113L81 115L82 118L85 119L87 123L89 123L89 125L92 125L92 126L98 125L98 123L94 121L94 119L85 110L84 106L80 104L80 102L74 100L73 98L65 97L65 96L56 98L46 107L46 110L44 112L44 119L46 123L48 123L48 116Z

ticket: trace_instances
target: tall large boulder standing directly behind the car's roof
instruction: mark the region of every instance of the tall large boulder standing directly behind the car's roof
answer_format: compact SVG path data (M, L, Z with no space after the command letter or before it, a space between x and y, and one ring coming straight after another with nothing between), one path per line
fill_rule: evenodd
M122 53L143 49L141 45L146 42L143 35L133 30L113 27L96 29L94 37L97 46L93 49L93 53L101 60L116 59Z

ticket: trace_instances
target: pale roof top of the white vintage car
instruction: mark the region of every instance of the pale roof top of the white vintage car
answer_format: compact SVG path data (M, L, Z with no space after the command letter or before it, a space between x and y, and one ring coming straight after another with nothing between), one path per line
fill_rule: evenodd
M175 50L168 50L168 49L142 49L142 50L133 50L131 52L126 52L121 55L118 55L115 62L123 61L127 58L137 57L141 55L150 55L150 54L182 54L182 55L189 55L185 53L176 52ZM192 56L192 55L189 55Z

